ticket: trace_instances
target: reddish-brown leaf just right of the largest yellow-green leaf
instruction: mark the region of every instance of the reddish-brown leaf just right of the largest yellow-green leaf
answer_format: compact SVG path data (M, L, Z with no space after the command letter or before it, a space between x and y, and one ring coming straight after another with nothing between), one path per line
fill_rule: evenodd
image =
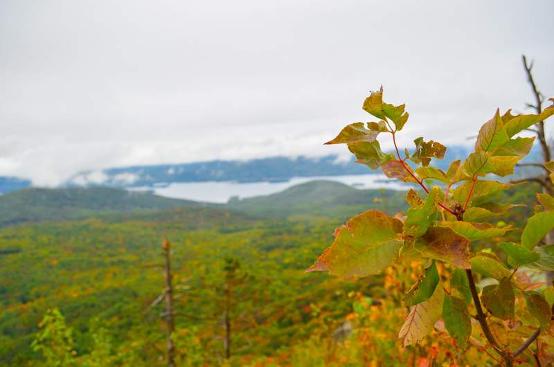
M448 227L429 226L424 235L416 238L414 248L425 258L432 258L471 269L467 244L470 240Z

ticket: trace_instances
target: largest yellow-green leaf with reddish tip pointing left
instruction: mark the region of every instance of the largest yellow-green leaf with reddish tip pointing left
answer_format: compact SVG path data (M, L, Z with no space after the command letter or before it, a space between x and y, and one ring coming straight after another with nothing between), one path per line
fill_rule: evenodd
M335 231L331 247L308 271L329 270L341 278L379 274L394 264L402 247L402 222L379 211L366 211Z

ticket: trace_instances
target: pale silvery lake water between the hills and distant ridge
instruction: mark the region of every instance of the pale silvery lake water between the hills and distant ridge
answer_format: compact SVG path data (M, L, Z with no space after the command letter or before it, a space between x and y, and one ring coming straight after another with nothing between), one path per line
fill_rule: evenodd
M224 204L231 197L244 199L245 197L271 195L286 190L289 187L315 180L337 181L360 190L368 188L406 190L406 188L410 187L395 179L387 179L384 174L354 174L347 176L294 177L286 182L237 183L208 181L159 183L154 187L139 187L131 188L130 190L150 190L157 195L165 197Z

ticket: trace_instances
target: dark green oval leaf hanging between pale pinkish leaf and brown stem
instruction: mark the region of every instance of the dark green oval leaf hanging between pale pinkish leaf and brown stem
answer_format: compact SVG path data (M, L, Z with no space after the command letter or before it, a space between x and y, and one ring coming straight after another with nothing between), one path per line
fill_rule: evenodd
M467 312L465 302L458 297L445 294L443 320L448 334L456 341L458 352L463 352L472 334L470 312Z

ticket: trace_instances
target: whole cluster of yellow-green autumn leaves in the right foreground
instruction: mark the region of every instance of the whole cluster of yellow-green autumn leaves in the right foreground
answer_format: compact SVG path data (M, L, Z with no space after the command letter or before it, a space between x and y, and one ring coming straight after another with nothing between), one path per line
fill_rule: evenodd
M546 296L551 299L547 300L536 290L542 284L530 283L526 274L516 276L521 267L554 270L554 244L537 247L554 228L553 197L537 195L542 206L535 207L519 243L498 243L506 251L512 269L490 249L470 252L470 242L490 240L513 230L511 226L485 222L514 207L486 201L515 186L488 179L488 175L506 177L514 172L535 139L516 135L554 114L554 107L539 115L512 116L508 111L501 116L497 111L481 127L475 151L463 162L452 162L444 172L430 165L431 159L443 159L445 155L446 147L440 143L417 138L414 152L410 154L406 149L404 159L400 157L395 134L402 130L409 115L404 105L386 104L382 96L381 89L364 102L364 109L379 122L367 123L367 128L363 123L348 125L328 144L346 143L357 163L372 170L381 168L388 178L415 183L426 195L420 197L409 190L405 199L411 208L406 215L389 217L379 211L366 211L353 217L334 232L333 244L307 271L328 270L341 278L359 278L379 274L398 263L425 260L425 273L404 295L404 304L411 306L411 311L398 335L402 346L417 343L434 328L442 328L453 339L453 355L471 343L487 353L494 350L506 365L513 361L533 364L535 358L544 363L554 360L554 295L549 290ZM386 154L381 150L379 134L391 134L395 152ZM419 167L413 169L408 160ZM546 168L554 168L554 162ZM425 186L429 179L438 181L438 186L429 190ZM437 271L437 263L442 262L452 265L444 278ZM473 272L494 278L498 284L484 287L479 298ZM472 312L476 316L472 317ZM530 352L526 341L534 341L539 333L538 347Z

